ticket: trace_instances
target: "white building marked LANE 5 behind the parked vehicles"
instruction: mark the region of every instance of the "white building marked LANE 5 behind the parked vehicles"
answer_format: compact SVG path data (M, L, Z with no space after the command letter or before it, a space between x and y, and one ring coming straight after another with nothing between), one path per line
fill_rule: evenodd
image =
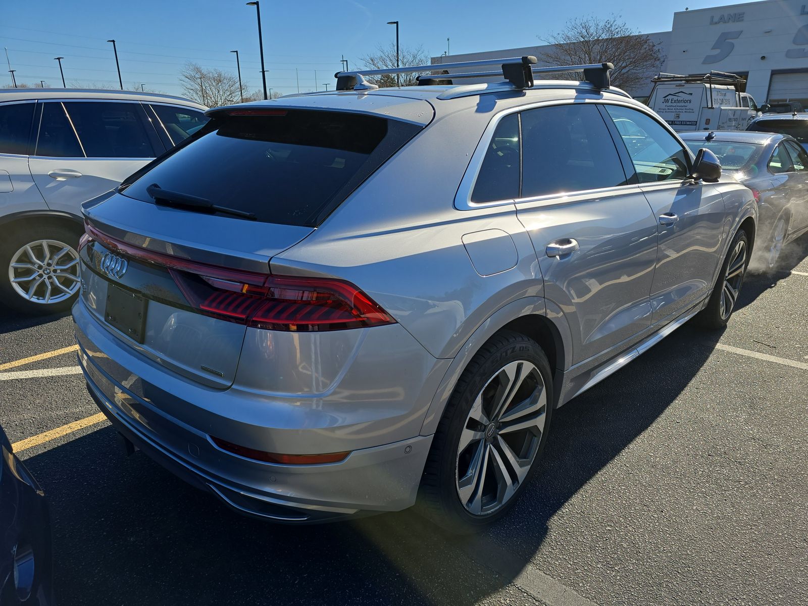
M740 74L748 78L747 92L758 104L800 101L808 107L808 0L764 0L680 11L673 15L671 32L647 36L659 42L666 57L657 71L705 74L714 69ZM433 57L432 63L534 55L541 65L541 56L549 48ZM653 75L648 74L646 86L628 92L641 98L649 95Z

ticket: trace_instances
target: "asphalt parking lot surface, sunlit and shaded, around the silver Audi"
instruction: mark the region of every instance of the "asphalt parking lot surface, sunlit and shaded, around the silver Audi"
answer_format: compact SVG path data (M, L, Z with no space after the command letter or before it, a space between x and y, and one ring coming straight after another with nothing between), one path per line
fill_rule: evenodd
M308 527L230 511L108 423L19 452L48 494L57 597L83 604L808 604L808 238L553 415L511 515L452 537L410 511ZM69 316L0 309L12 443L96 415ZM8 378L7 372L27 372Z

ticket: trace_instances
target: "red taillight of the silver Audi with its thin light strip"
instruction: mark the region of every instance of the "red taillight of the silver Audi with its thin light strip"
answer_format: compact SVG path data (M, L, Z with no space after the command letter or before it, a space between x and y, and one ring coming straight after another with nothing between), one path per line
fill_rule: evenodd
M188 305L200 314L267 330L311 332L393 324L375 301L345 280L273 276L196 263L88 233L124 255L167 267Z

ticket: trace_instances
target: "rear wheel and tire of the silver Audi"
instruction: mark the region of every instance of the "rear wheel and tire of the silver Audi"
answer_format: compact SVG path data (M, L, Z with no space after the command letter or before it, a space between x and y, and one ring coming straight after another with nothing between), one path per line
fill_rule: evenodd
M553 409L545 352L511 330L469 362L440 420L419 511L450 532L476 532L513 507L538 467Z

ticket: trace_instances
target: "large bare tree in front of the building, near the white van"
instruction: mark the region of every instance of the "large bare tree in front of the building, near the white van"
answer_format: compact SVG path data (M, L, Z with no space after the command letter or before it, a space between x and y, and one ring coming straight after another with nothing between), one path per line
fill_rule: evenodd
M566 22L562 32L545 40L552 44L541 61L551 65L614 64L612 86L636 89L663 63L662 49L649 36L631 29L620 17L600 19L593 15Z

